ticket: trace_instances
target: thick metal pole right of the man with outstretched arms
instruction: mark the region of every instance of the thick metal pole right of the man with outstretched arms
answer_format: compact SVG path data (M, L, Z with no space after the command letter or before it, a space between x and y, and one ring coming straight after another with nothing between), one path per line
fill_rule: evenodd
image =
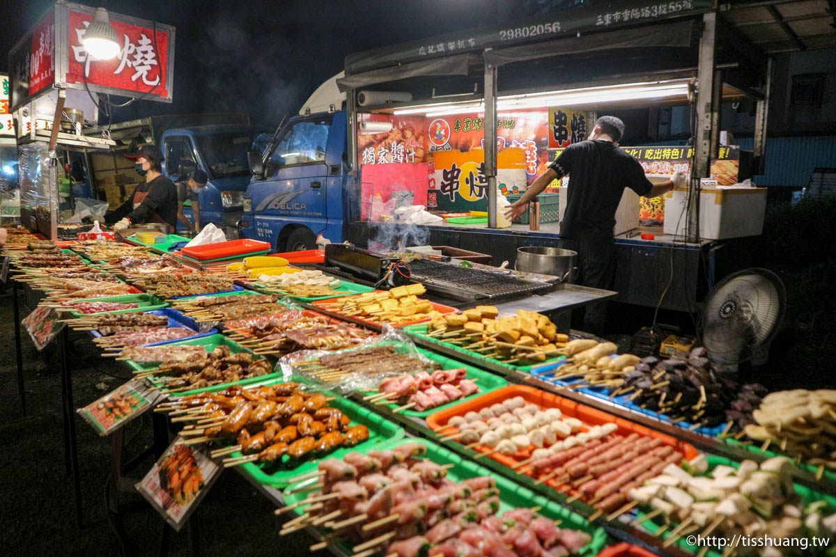
M694 166L688 191L688 223L686 241L700 241L700 179L709 176L711 168L711 104L714 96L714 53L716 50L717 14L702 16L704 27L700 38L700 60L697 67L696 137L694 138Z

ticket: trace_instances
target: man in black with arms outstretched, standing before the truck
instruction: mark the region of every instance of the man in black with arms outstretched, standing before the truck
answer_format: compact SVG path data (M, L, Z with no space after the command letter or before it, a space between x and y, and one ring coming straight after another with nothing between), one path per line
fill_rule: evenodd
M568 175L566 211L560 224L561 246L578 252L579 284L610 289L615 275L613 228L615 210L624 188L638 195L664 195L674 186L685 185L686 178L675 173L659 185L645 177L637 160L619 149L624 123L614 116L602 116L587 141L571 144L548 170L528 186L525 195L511 205L507 218L513 220L528 210L528 201L539 195L553 180ZM606 321L606 305L589 306L584 330L600 334Z

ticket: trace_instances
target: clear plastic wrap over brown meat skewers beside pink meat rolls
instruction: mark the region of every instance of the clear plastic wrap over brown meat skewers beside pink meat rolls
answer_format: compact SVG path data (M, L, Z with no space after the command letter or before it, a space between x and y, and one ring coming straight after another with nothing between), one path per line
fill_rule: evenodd
M376 391L384 377L431 371L434 363L421 355L404 332L385 325L382 334L338 351L303 350L279 360L285 381L293 374L344 393Z

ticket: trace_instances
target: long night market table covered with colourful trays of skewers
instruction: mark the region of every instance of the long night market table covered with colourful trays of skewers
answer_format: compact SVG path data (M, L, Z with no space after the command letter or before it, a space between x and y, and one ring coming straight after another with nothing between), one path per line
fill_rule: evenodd
M37 298L21 322L14 294L18 379L23 329L59 342L79 521L75 414L121 472L125 424L150 412L161 447L130 489L174 529L233 468L276 504L277 536L355 557L793 554L836 531L833 391L742 384L704 347L619 352L527 306L563 286L548 277L473 264L482 297L463 301L396 278L391 254L227 244L201 263L10 230L6 268ZM84 335L133 373L95 401L68 371Z

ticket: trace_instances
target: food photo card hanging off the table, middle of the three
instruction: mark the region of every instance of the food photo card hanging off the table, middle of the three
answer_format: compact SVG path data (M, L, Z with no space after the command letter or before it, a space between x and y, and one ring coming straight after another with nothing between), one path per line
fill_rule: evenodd
M78 413L99 432L108 435L151 408L163 395L142 379L132 379L108 392Z

